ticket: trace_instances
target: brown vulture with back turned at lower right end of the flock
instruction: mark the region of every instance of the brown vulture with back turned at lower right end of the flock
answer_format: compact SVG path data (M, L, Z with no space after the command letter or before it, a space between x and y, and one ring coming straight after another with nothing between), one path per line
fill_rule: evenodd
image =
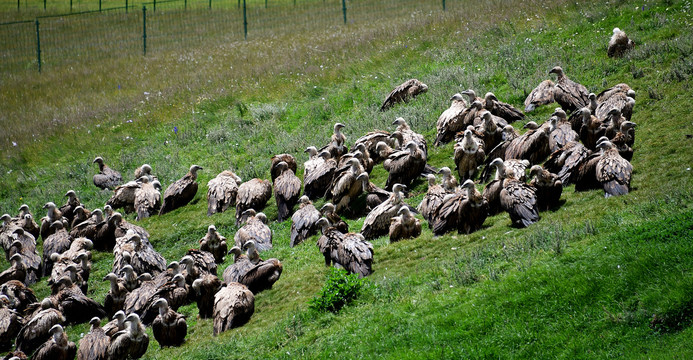
M604 153L597 161L595 174L597 181L604 188L604 197L628 194L633 165L618 153L610 141L599 143L598 147Z

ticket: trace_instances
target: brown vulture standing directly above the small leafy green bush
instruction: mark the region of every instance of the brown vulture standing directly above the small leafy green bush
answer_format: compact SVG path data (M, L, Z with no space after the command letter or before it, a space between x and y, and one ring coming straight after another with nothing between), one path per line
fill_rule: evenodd
M322 236L318 239L318 249L325 258L325 265L334 263L359 278L370 275L373 270L373 244L366 241L363 235L342 234L334 226L330 226L326 218L318 220Z

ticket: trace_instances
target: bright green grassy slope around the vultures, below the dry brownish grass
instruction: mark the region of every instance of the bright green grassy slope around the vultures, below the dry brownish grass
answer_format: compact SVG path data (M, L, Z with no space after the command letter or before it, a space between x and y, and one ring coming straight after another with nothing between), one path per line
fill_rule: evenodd
M312 240L290 249L289 224L272 223L275 249L264 256L281 259L285 272L273 290L256 298L251 322L214 339L211 323L195 320L195 306L187 306L181 311L189 315L188 343L155 351L152 342L148 356L690 357L683 344L690 344L692 335L693 196L687 168L693 150L684 135L691 130L686 105L693 71L685 59L693 42L679 26L687 21L685 6L652 4L644 11L627 3L616 10L569 7L492 30L434 24L401 34L397 46L346 69L308 81L284 78L283 87L275 85L266 94L202 100L193 114L163 109L177 114L169 122L147 123L146 115L125 114L121 119L135 121L104 124L112 126L106 132L90 127L103 132L97 140L108 146L105 152L121 169L131 171L147 159L168 183L190 163L200 162L209 169L201 175L205 183L229 163L244 178L267 176L272 154L299 154L308 144L324 142L334 121L346 123L353 140L368 129L389 128L392 118L402 115L430 140L451 93L468 87L478 93L492 90L519 105L524 91L555 64L593 91L627 82L638 92L633 194L605 200L601 192L575 194L570 187L565 205L543 214L529 229L513 230L507 216L499 215L470 236L432 239L424 231L421 238L398 244L378 239L371 286L338 315L307 310L325 274ZM614 26L625 28L639 44L623 60L605 55ZM383 94L410 76L429 84L429 93L378 113ZM289 85L294 81L298 85ZM528 120L544 121L551 108ZM174 125L181 129L177 137L170 131ZM59 199L68 187L76 188L90 207L102 204L108 194L89 184L89 162L99 145L85 141L89 138L81 132L71 139L58 135L26 149L24 161L3 163L3 183L12 185L3 187L0 210L14 212L21 202L36 209L47 198ZM57 151L48 151L51 147ZM84 155L67 153L78 147ZM430 161L451 165L451 150L451 145L433 150ZM385 175L377 169L374 181L382 184ZM425 185L419 183L411 203L423 192ZM157 249L176 259L195 245L210 221L223 234L235 231L232 212L208 219L202 215L205 206L201 192L192 205L142 225ZM272 219L276 207L266 212ZM350 221L354 229L361 223ZM95 260L92 278L99 279L112 256L95 254ZM107 286L95 281L90 288L101 300ZM38 285L36 290L45 295L47 289ZM678 314L679 321L651 328L653 314L665 319ZM68 332L76 340L85 330L82 325Z

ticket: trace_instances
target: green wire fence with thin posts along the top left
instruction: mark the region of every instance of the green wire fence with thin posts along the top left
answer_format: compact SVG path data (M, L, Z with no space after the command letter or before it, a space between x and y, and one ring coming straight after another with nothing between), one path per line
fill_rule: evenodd
M120 6L116 6L120 5ZM19 0L0 7L0 73L146 56L288 33L310 32L413 10L445 11L444 0ZM33 18L32 18L33 17Z

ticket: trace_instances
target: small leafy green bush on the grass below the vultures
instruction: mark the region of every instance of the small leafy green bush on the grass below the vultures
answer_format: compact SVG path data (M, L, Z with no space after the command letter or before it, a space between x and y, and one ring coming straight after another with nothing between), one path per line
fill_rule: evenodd
M344 269L330 269L327 280L316 297L310 300L310 308L318 311L339 311L361 293L365 279L349 274Z

